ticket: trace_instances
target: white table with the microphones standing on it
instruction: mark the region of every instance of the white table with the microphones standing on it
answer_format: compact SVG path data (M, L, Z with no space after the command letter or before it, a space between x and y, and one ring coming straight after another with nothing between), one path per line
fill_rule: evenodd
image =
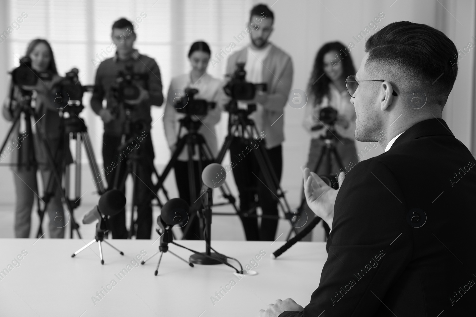
M270 241L212 241L218 252L237 258L243 267L260 250L266 255L257 261L257 275L238 279L233 270L223 264L189 267L170 253L165 253L160 263L159 275L154 270L159 260L156 255L145 265L130 266L121 279L119 271L141 250L147 257L156 252L159 241L108 240L124 252L121 256L102 243L105 264L99 260L99 248L94 243L75 258L71 254L89 242L89 239L1 239L0 270L17 255L18 267L13 267L0 280L0 316L21 317L89 317L89 316L140 316L140 317L209 317L257 316L259 309L276 299L293 298L298 304L308 304L312 292L319 285L324 262L327 259L325 244L298 242L278 259L272 252L284 242ZM203 252L202 241L178 240L188 248ZM169 244L170 250L188 259L191 252ZM26 256L22 256L21 252ZM230 262L231 263L231 262ZM232 263L235 265L234 263ZM237 264L238 265L238 264ZM111 280L116 281L112 286ZM230 280L236 285L218 302L212 296ZM102 299L93 303L96 292L104 290Z

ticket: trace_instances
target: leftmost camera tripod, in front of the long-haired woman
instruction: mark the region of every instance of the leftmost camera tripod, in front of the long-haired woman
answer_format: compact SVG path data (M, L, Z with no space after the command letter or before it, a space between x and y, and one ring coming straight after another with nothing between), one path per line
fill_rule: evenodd
M9 109L11 109L11 106L12 106L14 89L15 89L15 86L11 85ZM36 109L31 106L32 91L25 90L25 89L22 89L20 87L19 87L19 89L20 89L20 92L21 92L21 100L18 101L19 102L18 106L20 107L20 109L17 110L17 113L15 114L15 116L12 120L13 123L10 127L10 130L9 130L8 134L5 137L5 140L3 141L3 144L1 145L0 153L3 153L3 149L5 148L5 145L7 144L8 140L10 138L10 135L13 133L15 127L20 124L21 114L24 114L26 132L28 133L28 135L31 135L31 137L33 138L32 125L31 125L31 118L33 118L36 122L35 125L38 124L38 127L36 129L36 133L37 133L37 135L39 137L39 140L40 140L39 146L41 146L45 150L46 158L48 160L48 169L51 173L50 177L49 177L49 181L48 181L48 186L46 186L46 188L44 189L44 192L43 192L43 199L41 199L37 195L38 215L40 216L39 232L41 232L41 221L42 221L44 212L45 212L45 210L48 206L48 203L50 202L51 197L53 197L54 194L55 194L55 191L56 191L55 186L59 186L61 188L61 176L60 176L61 174L60 174L60 169L58 168L59 164L55 164L53 154L51 153L50 143L49 143L49 141L46 137L46 134L43 130L43 125L41 124L41 122L39 122L41 118L36 113ZM28 162L26 163L26 168L27 169L33 168L36 171L37 168L38 168L38 162L37 162L36 156L35 156L33 140L28 142L28 144L29 144L29 147L28 147L28 150L27 150L27 154L28 154L27 160L28 160ZM57 154L58 154L58 152L60 152L60 151L57 151ZM21 165L23 165L23 164L20 163L19 166L21 166ZM35 176L35 179L36 179L36 176ZM70 219L72 221L71 222L71 227L70 227L70 237L72 238L72 236L73 236L73 230L76 230L76 233L78 234L79 238L81 238L81 234L79 233L79 225L74 220L74 217L73 217L72 204L69 201L68 197L66 196L65 191L62 190L62 188L60 190L60 193L61 193L61 200L62 200L63 204L66 204L67 209L69 211ZM40 200L42 202L44 202L43 209L41 209L41 207L40 207ZM37 235L37 238L39 238L39 237L40 237L40 233L38 233L38 235Z

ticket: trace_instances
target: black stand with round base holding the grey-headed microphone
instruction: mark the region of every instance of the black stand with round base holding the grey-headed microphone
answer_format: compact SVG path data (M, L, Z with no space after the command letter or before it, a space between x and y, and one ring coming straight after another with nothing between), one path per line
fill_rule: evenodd
M213 265L226 264L227 256L218 252L211 252L211 207L213 206L212 189L207 187L204 194L203 210L199 210L199 217L205 218L205 252L195 253L190 256L190 262L195 264Z

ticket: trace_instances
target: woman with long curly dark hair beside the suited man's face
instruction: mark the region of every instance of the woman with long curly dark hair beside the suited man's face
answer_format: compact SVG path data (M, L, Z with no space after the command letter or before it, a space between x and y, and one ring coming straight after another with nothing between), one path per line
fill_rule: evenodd
M356 112L354 105L350 103L345 82L346 78L355 75L356 71L352 58L350 58L350 52L347 53L346 49L340 42L330 42L324 44L317 52L307 87L308 102L303 123L312 138L306 165L311 171L315 171L319 157L326 147L326 140L323 137L332 130L330 125L322 121L324 119L319 117L319 113L326 107L332 107L337 111L335 131L330 135L335 136L336 150L344 169L338 166L335 156L332 154L330 175L335 176L336 179L340 172L348 172L345 170L346 167L357 157L354 136ZM316 171L317 175L329 174L325 158ZM313 214L306 204L305 210L308 215ZM323 225L328 234L327 224L323 222ZM309 235L306 238L310 240Z

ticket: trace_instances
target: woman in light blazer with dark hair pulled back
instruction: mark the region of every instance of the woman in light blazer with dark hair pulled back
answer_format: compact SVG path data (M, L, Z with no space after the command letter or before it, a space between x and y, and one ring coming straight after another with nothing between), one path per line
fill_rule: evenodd
M201 173L199 168L203 168L213 163L213 160L218 154L218 142L215 132L215 125L220 121L221 109L224 103L227 101L222 89L222 82L214 77L211 77L206 73L208 62L210 60L210 48L208 44L203 41L198 41L192 44L188 51L188 60L190 61L190 72L179 75L172 78L169 86L169 93L167 97L167 103L164 110L164 128L165 136L169 144L170 152L173 153L177 148L177 141L179 137L187 134L187 129L182 129L180 135L178 135L178 128L180 126L179 120L185 117L184 113L179 113L177 108L179 106L174 104L174 100L180 95L180 92L185 91L186 88L195 88L198 93L194 96L194 99L204 99L209 102L215 102L216 106L213 109L208 109L207 115L191 115L191 119L194 121L201 121L198 133L203 136L206 144L211 150L213 158L211 160L203 161L199 166L198 161L198 146L195 148L195 155L192 158L188 157L187 147L180 152L178 160L174 165L175 181L178 187L178 194L180 198L188 202L189 205L193 204L198 198L201 189ZM188 105L189 107L189 105ZM188 173L188 160L193 161L194 167L194 179L195 179L195 193L192 195L190 192L189 173ZM195 197L191 200L191 197ZM189 218L190 219L190 218ZM200 239L200 230L198 217L194 221L188 223L190 230L183 239L196 240ZM185 230L185 225L182 227Z

